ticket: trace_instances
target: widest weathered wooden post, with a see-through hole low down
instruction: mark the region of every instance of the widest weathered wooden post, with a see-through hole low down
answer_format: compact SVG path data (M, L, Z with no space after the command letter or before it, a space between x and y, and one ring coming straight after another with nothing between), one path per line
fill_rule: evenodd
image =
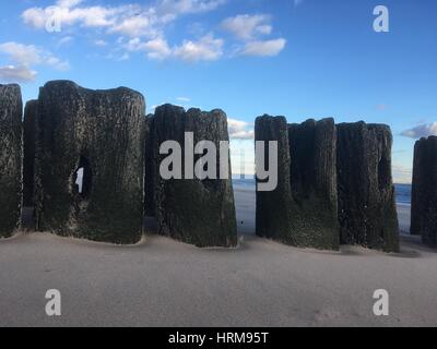
M39 92L36 226L120 244L143 232L144 97L73 82Z

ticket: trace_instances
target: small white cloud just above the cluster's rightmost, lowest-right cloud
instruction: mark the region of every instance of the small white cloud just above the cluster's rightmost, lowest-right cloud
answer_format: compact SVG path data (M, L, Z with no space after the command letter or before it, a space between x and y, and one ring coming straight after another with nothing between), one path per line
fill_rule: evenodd
M270 15L265 14L240 14L228 17L222 22L222 28L231 32L238 39L249 40L258 35L269 35L272 33Z

